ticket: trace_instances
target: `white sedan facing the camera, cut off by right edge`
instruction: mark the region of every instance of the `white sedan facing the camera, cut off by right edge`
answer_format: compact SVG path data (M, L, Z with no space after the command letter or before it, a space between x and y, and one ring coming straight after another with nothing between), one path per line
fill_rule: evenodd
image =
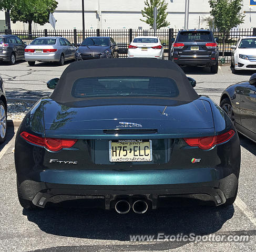
M231 46L231 70L256 70L256 37L242 37Z

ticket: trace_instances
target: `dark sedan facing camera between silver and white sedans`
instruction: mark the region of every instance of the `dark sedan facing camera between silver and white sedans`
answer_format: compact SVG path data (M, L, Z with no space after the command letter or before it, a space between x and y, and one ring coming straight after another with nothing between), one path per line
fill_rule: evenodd
M76 51L77 60L118 58L118 46L111 37L88 37Z

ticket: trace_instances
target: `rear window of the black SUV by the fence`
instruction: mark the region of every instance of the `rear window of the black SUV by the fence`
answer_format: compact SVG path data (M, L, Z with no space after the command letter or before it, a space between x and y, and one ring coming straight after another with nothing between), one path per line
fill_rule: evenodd
M208 31L182 31L178 36L178 42L212 41Z

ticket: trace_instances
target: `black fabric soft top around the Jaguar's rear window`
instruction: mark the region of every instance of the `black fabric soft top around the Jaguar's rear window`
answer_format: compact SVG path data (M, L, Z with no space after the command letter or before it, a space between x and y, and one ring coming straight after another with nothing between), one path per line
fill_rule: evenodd
M91 98L76 98L71 95L74 82L86 77L168 77L176 81L179 95L168 98L178 101L193 101L198 94L191 87L183 70L174 62L158 59L92 59L70 64L63 72L54 92L50 96L56 102L77 102ZM143 97L143 94L141 94Z

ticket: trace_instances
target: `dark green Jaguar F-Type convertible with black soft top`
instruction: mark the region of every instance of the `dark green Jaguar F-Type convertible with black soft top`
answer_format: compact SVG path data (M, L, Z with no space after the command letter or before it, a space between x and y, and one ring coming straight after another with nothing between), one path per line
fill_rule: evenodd
M155 59L70 64L18 129L19 202L145 213L173 197L233 204L240 143L216 103L175 63Z

